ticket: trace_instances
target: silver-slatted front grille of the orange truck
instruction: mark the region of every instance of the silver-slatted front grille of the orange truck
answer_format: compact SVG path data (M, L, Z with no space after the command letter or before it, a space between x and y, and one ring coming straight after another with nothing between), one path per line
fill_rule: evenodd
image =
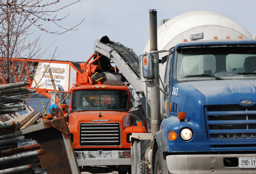
M81 123L80 146L120 146L120 124Z

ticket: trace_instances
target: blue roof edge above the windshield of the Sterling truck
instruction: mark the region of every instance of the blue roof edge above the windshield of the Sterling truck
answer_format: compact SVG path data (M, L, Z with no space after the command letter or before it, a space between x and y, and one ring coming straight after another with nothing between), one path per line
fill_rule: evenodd
M193 47L215 47L215 46L256 46L256 39L214 39L214 40L195 40L181 42L175 46L175 49L193 48Z

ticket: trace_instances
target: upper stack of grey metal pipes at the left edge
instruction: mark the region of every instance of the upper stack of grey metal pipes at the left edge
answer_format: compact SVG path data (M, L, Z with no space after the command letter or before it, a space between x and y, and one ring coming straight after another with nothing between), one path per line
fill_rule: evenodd
M0 85L0 114L13 113L25 110L25 104L20 103L36 89L29 90L24 82Z

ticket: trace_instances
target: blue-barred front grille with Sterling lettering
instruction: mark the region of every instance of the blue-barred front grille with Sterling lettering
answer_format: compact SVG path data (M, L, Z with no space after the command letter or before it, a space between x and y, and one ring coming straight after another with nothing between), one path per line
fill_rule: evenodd
M256 105L206 106L204 111L210 140L256 139Z

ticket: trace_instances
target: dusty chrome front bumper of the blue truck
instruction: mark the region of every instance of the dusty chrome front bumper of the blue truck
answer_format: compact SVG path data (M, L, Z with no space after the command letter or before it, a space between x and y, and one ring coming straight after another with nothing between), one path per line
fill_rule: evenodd
M224 158L256 157L256 154L168 155L171 174L255 174L254 168L225 167Z

